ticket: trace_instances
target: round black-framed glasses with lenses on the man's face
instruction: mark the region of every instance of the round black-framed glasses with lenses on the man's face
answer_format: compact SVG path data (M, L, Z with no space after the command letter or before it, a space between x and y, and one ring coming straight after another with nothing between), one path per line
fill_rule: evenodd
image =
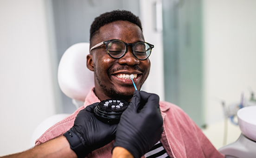
M118 39L111 39L96 44L95 46L91 47L90 51L103 44L106 45L106 51L109 56L115 59L119 59L127 53L128 45L132 46L134 56L140 60L147 59L150 56L152 49L154 48L153 44L149 44L147 42L136 42L134 44L127 44Z

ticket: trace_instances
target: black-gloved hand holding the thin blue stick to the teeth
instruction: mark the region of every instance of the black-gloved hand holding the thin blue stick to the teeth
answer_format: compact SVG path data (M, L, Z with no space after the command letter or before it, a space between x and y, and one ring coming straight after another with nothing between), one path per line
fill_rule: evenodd
M134 158L141 158L160 140L162 132L159 96L135 90L117 126L113 149L121 146Z

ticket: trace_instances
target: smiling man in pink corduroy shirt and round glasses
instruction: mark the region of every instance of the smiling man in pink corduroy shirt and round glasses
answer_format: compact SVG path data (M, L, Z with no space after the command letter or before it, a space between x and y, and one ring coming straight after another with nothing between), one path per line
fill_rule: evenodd
M140 89L150 70L150 60L147 58L150 53L141 55L138 51L140 47L132 45L138 42L144 42L141 22L132 13L113 11L94 20L90 29L87 67L94 71L95 88L85 99L84 107L109 98L131 101L134 87L129 75L136 76L134 82ZM147 50L152 49L150 45L146 44ZM65 133L73 126L78 111L84 107L51 127L37 140L36 145ZM165 128L160 142L170 157L223 157L179 107L160 102L160 108ZM111 157L113 143L92 151L88 157Z

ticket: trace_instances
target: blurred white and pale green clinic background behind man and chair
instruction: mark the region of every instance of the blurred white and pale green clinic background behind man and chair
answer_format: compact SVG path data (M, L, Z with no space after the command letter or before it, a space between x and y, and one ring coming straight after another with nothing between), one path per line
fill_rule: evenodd
M255 100L255 0L0 0L0 156L27 150L43 120L76 110L58 87L60 58L117 9L139 16L155 46L142 89L181 107L217 149L237 140L224 109Z

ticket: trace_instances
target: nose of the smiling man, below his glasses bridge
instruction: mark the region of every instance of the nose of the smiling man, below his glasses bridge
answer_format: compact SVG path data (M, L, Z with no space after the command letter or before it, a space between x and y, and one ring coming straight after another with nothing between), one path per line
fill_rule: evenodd
M127 64L128 66L138 65L140 60L134 56L132 48L128 48L126 54L118 60L119 64Z

